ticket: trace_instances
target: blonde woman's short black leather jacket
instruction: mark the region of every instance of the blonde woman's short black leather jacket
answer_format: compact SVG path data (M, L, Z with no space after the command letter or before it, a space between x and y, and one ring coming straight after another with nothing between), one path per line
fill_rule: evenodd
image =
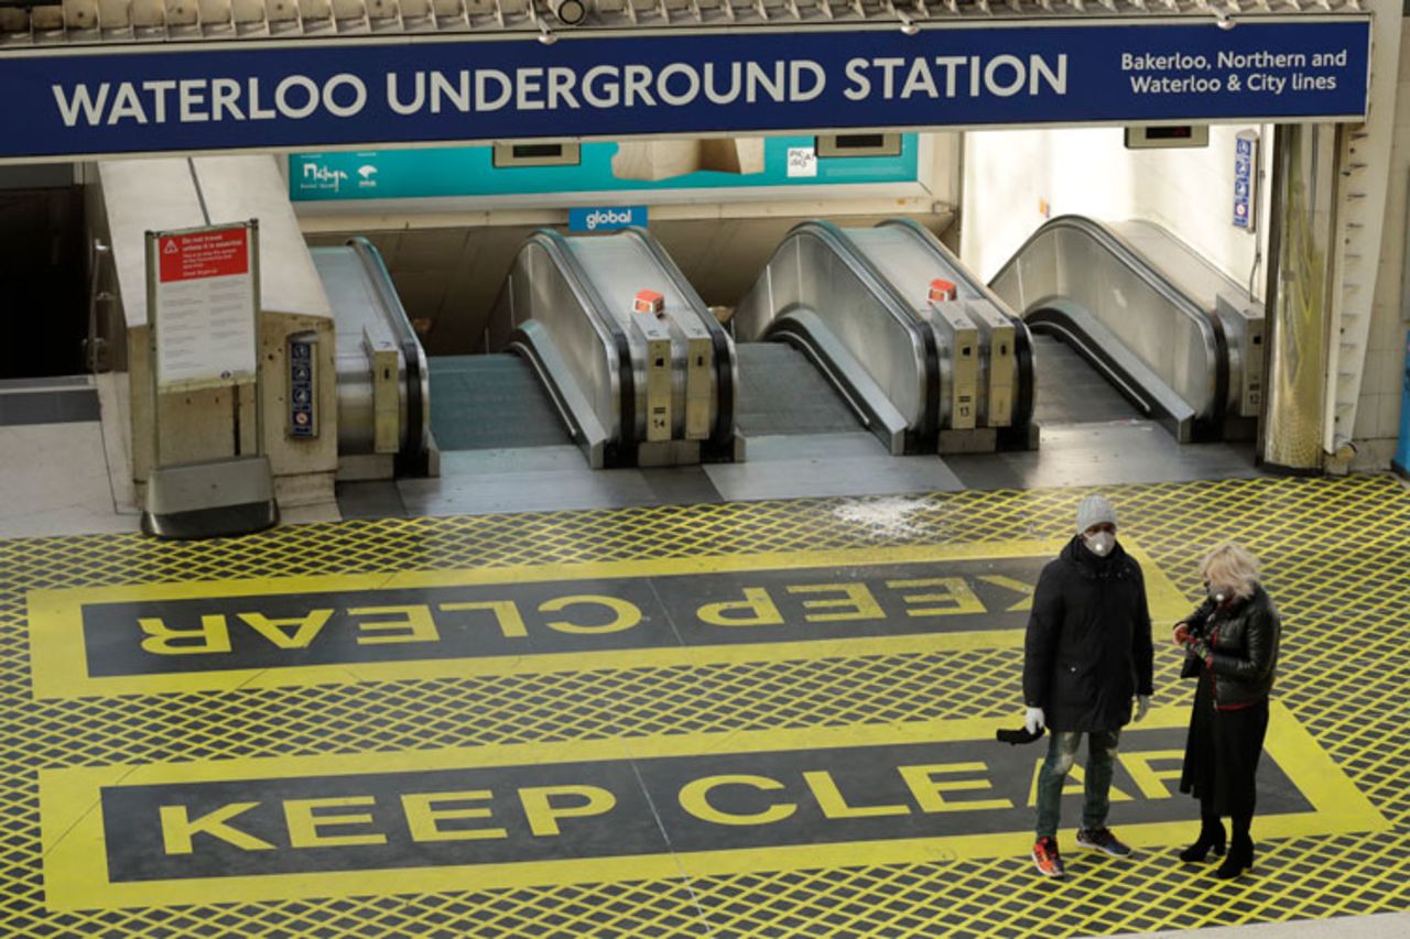
M1248 599L1224 608L1201 603L1184 622L1210 646L1217 706L1249 705L1268 698L1277 671L1283 623L1262 587ZM1200 674L1201 664L1191 653L1180 675Z

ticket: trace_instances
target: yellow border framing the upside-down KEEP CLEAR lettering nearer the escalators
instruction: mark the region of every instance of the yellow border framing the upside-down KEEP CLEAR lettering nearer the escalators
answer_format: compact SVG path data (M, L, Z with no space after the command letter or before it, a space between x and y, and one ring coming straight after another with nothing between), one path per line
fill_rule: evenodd
M399 571L392 574L333 574L259 579L203 579L175 584L35 589L28 592L30 654L37 698L80 698L154 692L228 691L274 685L317 685L348 681L451 678L484 674L578 671L584 668L664 668L689 664L730 664L784 658L964 651L1022 647L1022 629L918 632L900 636L860 636L761 642L749 644L671 646L619 649L611 640L603 650L534 653L498 657L440 657L405 661L343 661L276 668L220 668L165 674L90 675L83 650L83 608L96 603L193 601L207 598L306 596L320 594L417 591L495 584L571 584L598 578L649 578L723 572L797 571L883 564L983 561L1058 556L1066 540L1012 540L983 544L928 544L829 551L770 551L719 557L602 561L587 564L534 564L451 571ZM1158 634L1163 626L1190 610L1169 578L1139 546L1124 541L1145 574L1146 595ZM1029 585L1031 587L1031 585ZM79 650L79 651L76 651ZM179 664L179 658L175 661Z

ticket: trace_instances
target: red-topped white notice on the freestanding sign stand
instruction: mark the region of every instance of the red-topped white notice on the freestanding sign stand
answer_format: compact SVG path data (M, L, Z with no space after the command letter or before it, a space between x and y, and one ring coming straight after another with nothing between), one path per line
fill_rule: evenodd
M258 368L254 223L148 233L158 391L240 385Z

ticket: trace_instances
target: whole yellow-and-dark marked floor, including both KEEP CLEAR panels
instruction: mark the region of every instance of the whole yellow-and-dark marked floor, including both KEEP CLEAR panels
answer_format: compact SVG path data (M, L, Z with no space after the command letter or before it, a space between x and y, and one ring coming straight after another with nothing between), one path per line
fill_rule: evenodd
M1144 563L1138 853L1026 856L1026 603L1090 489L0 541L0 935L1101 935L1410 908L1410 491L1103 489ZM1255 870L1173 852L1166 627L1285 616Z

